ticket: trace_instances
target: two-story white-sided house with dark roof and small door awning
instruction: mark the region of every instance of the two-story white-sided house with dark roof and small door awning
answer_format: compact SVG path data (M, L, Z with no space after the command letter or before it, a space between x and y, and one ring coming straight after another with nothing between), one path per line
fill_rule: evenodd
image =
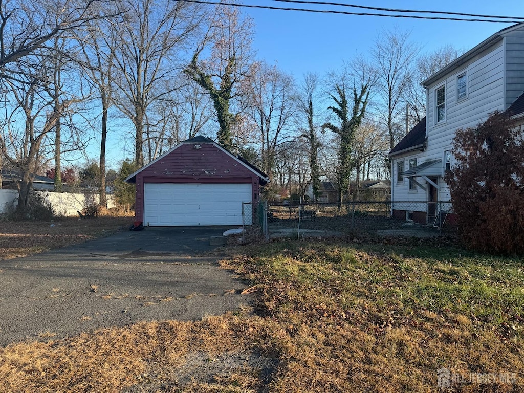
M443 180L453 165L452 140L496 110L524 119L524 23L500 30L421 83L427 115L389 152L392 213L434 223L435 201L450 201ZM451 204L442 207L449 211Z

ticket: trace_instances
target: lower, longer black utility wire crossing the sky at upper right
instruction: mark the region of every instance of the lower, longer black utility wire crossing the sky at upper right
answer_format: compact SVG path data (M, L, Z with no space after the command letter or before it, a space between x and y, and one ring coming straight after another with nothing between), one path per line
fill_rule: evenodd
M457 21L465 21L465 22L522 23L522 20L464 19L464 18L451 18L451 17L448 18L448 17L443 17L443 16L417 16L417 15L390 15L390 14L357 13L357 12L337 11L337 10L273 7L269 5L254 5L254 4L236 4L236 3L225 3L225 2L218 2L218 1L213 2L213 1L207 1L207 0L176 0L176 1L188 2L188 3L198 3L198 4L226 5L226 6L233 6L233 7L278 9L278 10L285 10L285 11L301 11L301 12L311 12L311 13L320 13L320 14L383 16L383 17L389 17L389 18L411 18L411 19L431 19L431 20L457 20Z

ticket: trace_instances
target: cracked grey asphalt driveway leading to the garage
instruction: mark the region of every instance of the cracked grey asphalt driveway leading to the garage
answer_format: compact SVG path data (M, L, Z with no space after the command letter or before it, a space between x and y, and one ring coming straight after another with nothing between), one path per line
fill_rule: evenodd
M252 299L209 245L227 229L146 228L0 261L0 345L237 310Z

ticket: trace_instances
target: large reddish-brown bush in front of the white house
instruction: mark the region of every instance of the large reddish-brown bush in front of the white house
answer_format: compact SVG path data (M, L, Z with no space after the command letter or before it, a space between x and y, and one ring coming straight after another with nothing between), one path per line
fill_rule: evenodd
M521 127L495 112L453 139L445 176L459 234L468 247L524 253L524 143Z

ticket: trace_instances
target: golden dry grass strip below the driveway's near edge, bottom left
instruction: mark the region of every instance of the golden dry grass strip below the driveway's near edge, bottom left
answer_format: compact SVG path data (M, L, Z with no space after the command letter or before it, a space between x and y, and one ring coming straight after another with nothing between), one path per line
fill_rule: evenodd
M275 335L275 330L276 324L261 319L248 324L227 315L199 322L139 323L82 334L70 341L13 344L0 350L0 391L113 393L155 381L176 386L172 370L181 366L184 355L246 351L256 348L260 339ZM225 391L227 386L238 388L242 380L241 387L258 390L253 370L248 375L232 375L230 380L217 377L215 384L194 383L184 391Z

